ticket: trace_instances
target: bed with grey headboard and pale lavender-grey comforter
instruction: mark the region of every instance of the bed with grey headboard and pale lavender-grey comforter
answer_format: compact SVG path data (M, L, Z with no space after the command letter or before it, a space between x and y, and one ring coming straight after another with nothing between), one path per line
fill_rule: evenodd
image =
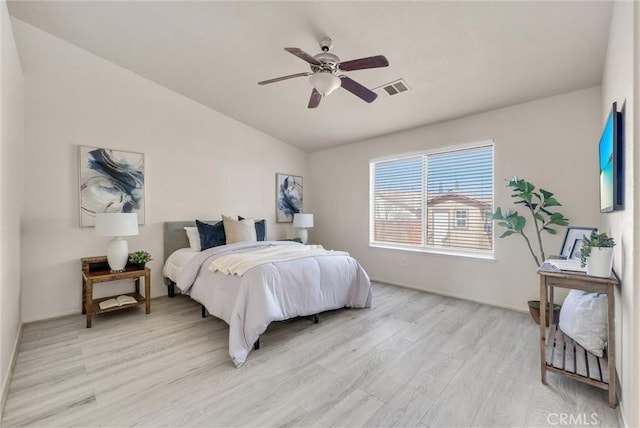
M371 306L369 277L347 253L290 241L235 242L194 251L184 230L193 225L165 223L163 275L169 295L177 287L229 325L229 355L236 367L257 349L260 334L273 321Z

